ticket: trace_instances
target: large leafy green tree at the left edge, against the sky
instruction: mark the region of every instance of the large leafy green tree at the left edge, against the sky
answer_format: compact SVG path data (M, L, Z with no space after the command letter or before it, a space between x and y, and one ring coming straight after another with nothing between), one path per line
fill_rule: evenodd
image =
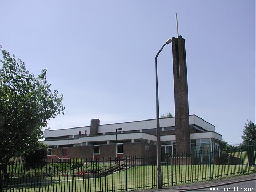
M0 163L6 163L11 157L35 149L42 137L42 127L47 126L50 118L64 114L65 107L63 95L51 91L46 69L35 77L23 61L2 46L0 50Z

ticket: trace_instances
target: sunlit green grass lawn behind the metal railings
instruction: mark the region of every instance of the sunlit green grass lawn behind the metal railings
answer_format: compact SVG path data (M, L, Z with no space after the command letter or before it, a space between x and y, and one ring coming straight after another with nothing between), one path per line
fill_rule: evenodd
M255 171L255 167L244 165L244 173ZM30 180L25 182L27 186L20 186L19 183L22 179L17 177L12 179L11 184L12 191L125 191L126 187L128 190L155 188L157 185L156 173L156 166L147 165L131 167L127 171L119 171L101 178L85 179L79 176L72 177L71 175L37 177L34 179L31 177ZM211 165L211 174L209 164L173 165L172 167L163 165L162 185L180 185L241 174L241 165Z

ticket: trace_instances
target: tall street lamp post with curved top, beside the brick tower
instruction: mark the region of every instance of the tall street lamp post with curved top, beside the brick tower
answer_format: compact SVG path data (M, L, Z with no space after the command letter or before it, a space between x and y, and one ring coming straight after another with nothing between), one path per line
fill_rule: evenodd
M161 47L155 57L155 71L156 71L156 153L157 153L157 188L162 189L162 177L161 177L161 143L160 143L160 120L159 120L159 98L158 98L158 77L157 77L157 57L164 49L165 45L172 42L172 39L168 39Z

